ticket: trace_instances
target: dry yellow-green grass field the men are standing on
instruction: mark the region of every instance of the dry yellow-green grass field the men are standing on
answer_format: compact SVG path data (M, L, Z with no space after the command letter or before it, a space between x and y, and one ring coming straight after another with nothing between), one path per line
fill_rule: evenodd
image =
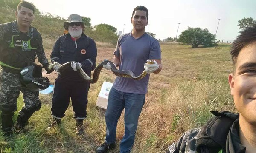
M203 125L212 115L209 111L232 111L227 76L233 70L230 45L215 48L190 48L188 45L162 43L163 70L152 74L146 102L140 115L133 153L163 153L186 130ZM98 47L97 63L112 59L114 48ZM47 57L51 50L47 49ZM54 82L56 73L43 74ZM84 136L75 135L75 120L70 106L61 127L47 131L51 115L51 96L40 95L42 108L27 125L28 132L4 139L3 153L95 153L105 138L105 110L96 99L104 81L113 82L111 71L102 70L99 81L92 84L88 96ZM23 105L18 99L18 110ZM17 112L14 119L16 120ZM116 134L119 144L124 133L123 114ZM118 146L118 145L117 145ZM119 153L119 148L109 153Z

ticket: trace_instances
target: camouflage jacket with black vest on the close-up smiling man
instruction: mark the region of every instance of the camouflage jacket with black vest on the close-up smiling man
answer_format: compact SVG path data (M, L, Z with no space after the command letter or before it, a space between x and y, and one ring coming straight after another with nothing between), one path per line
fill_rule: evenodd
M233 153L233 151L229 151L233 148L227 148L233 147L233 144L226 145L226 143L228 136L233 134L230 133L230 129L236 126L234 122L239 121L239 115L228 111L211 112L215 115L214 117L203 127L185 132L176 143L168 147L166 153ZM232 142L230 141L230 143Z

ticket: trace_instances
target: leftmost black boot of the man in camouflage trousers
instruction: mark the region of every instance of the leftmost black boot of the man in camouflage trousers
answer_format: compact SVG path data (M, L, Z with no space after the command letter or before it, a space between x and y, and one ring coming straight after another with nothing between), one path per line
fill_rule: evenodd
M13 121L12 121L13 113L1 113L2 118L2 130L4 133L4 136L10 136L12 134L12 127L13 127Z

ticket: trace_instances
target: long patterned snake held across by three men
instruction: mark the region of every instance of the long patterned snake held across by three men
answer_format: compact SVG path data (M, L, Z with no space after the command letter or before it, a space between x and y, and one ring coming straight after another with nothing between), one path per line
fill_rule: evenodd
M86 81L90 82L90 83L95 83L98 81L99 79L99 74L103 68L103 65L107 64L108 62L110 63L110 66L111 66L111 70L113 72L113 74L115 74L116 76L119 76L119 77L129 77L131 79L134 79L134 80L140 80L142 79L143 77L146 76L147 72L144 70L139 76L135 76L134 72L130 71L130 70L118 70L116 69L115 65L113 64L113 62L109 61L109 60L105 60L103 62L101 62L94 70L93 72L93 78L89 77L85 72L84 70L81 68L81 66L79 66L79 64L75 61L71 61L71 62L67 62L67 63L64 63L64 64L59 64L57 62L54 62L53 64L50 64L48 66L48 70L51 70L53 68L53 66L55 65L58 65L59 66L59 71L61 72L63 69L66 69L67 67L70 67L71 66L71 63L74 62L76 63L76 68L77 68L77 71L79 72L79 75L85 79ZM154 62L151 60L149 62L147 62L148 64L154 64Z

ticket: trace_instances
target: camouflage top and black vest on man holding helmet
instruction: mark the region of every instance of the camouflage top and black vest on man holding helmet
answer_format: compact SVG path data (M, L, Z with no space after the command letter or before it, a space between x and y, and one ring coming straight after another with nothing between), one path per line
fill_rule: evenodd
M0 64L5 71L20 73L20 70L36 56L41 64L47 64L41 34L30 26L27 33L19 31L17 20L0 24Z

